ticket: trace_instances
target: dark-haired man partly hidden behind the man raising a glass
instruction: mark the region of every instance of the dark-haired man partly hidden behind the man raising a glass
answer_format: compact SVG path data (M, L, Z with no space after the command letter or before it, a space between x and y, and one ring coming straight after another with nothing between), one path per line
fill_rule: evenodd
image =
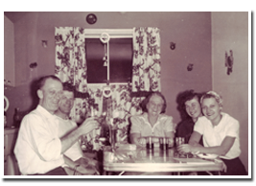
M61 138L74 129L77 124L69 120L70 111L74 105L74 89L67 83L63 83L63 93L58 103L58 110L55 113L58 118L58 137ZM68 174L94 174L98 162L83 155L79 142L64 152L64 169ZM76 173L73 168L76 168Z

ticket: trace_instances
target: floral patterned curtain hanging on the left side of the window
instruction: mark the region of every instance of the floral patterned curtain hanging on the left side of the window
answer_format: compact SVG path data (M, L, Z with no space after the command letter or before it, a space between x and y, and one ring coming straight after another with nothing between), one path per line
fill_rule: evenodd
M85 40L83 29L73 27L56 28L56 69L55 75L62 82L70 82L80 92L87 92ZM76 99L70 117L79 122L86 114L88 104Z

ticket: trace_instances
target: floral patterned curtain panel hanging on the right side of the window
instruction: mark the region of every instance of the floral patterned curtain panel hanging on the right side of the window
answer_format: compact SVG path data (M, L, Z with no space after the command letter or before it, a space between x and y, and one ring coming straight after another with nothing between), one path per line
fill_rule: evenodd
M132 91L161 91L159 29L133 29Z

